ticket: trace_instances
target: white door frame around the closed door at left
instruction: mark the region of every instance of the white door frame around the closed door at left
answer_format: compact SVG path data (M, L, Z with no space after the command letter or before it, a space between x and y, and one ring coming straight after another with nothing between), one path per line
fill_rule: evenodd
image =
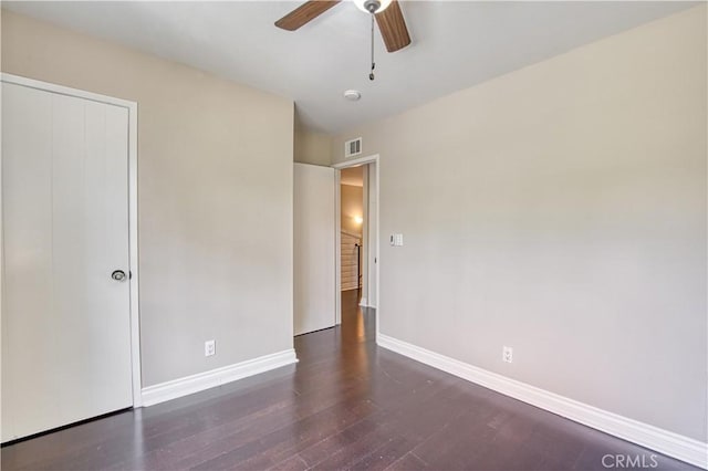
M138 237L137 237L137 103L113 96L101 95L83 90L71 88L49 82L42 82L8 73L0 74L0 82L52 92L60 95L75 96L93 102L121 106L128 112L128 287L131 292L131 365L133 379L133 407L142 407L142 376L140 376L140 306L139 306L139 276L138 276ZM0 168L2 167L0 155ZM1 177L1 176L0 176ZM2 179L0 178L0 196L2 195ZM0 211L1 211L0 205ZM0 220L2 214L0 212ZM1 236L0 236L1 237ZM0 262L4 263L3 241L0 239ZM1 281L1 280L0 280ZM4 286L4 284L2 284ZM0 315L2 304L0 303Z

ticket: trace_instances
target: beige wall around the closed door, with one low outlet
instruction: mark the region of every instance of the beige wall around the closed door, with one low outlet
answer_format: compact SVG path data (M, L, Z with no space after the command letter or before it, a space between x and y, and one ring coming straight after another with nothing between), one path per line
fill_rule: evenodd
M2 71L138 103L144 386L292 347L291 101L8 11Z

